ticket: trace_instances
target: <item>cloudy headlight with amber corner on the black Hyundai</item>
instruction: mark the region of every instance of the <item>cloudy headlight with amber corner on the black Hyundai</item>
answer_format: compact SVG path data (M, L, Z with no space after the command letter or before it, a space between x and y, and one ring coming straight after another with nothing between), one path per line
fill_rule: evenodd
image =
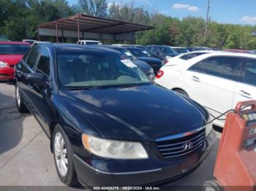
M148 158L144 147L133 141L113 141L99 139L86 134L82 135L83 146L99 157L116 159L143 159Z

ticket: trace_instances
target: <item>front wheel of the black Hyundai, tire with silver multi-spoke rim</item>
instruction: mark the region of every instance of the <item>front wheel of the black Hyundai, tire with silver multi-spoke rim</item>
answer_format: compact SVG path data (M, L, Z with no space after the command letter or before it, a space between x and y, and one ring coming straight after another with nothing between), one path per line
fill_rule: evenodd
M54 128L52 141L54 163L59 179L69 187L78 184L75 165L73 162L72 147L66 133L64 133L64 130L60 125L56 125ZM67 171L65 171L65 166Z

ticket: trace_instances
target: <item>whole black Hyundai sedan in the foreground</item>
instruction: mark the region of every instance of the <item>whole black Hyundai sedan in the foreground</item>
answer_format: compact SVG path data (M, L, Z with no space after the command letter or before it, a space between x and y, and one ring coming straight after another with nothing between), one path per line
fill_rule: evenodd
M18 110L34 114L69 186L170 181L197 167L216 139L203 106L154 85L114 50L39 44L15 78Z

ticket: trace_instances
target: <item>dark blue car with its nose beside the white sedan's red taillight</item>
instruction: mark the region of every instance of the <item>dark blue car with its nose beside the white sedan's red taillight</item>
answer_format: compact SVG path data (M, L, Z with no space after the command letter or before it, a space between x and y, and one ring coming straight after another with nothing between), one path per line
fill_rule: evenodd
M132 52L132 55L135 55L138 60L148 63L148 65L154 69L154 74L157 74L162 65L164 65L164 61L151 57L151 55L146 50L142 50L137 47L127 47L127 50Z

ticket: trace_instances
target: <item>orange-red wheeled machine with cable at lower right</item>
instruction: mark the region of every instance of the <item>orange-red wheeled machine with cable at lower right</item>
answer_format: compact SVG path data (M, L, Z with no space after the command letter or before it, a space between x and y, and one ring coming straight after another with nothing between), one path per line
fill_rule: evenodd
M227 114L214 177L204 190L256 190L256 101L239 102Z

